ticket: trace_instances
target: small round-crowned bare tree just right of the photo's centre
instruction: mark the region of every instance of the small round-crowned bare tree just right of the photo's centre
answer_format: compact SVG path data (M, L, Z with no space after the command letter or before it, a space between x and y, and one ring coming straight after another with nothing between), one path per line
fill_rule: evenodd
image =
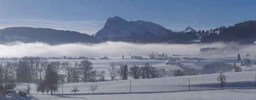
M129 73L134 79L139 79L140 78L140 67L136 65L131 65L129 67Z

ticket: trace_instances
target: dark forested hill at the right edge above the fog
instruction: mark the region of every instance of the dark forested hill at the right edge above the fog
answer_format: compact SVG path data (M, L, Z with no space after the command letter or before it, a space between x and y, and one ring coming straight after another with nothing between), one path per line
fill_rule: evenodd
M215 33L219 31L219 34ZM202 34L201 43L211 43L213 41L240 41L242 44L250 44L256 41L256 21L238 23L234 26L219 27L210 34Z

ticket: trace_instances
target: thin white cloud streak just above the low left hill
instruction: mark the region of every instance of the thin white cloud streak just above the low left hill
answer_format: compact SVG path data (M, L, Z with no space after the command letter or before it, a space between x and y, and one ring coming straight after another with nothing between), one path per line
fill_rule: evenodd
M34 28L52 28L58 30L71 30L89 35L99 31L105 22L97 21L66 21L66 20L35 20L35 19L10 19L1 18L0 28L7 27L34 27Z

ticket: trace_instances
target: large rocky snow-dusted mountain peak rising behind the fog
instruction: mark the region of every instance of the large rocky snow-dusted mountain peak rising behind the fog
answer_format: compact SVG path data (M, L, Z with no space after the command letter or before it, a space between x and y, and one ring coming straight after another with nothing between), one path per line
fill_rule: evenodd
M104 40L136 40L148 37L173 34L173 31L162 27L159 24L138 20L127 22L120 17L107 19L104 27L93 34L98 39Z

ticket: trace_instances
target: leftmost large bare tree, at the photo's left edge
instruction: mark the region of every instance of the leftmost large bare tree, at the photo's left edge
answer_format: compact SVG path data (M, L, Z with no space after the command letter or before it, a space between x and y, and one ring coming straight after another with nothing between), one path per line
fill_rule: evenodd
M15 77L17 63L6 62L3 66L3 80L5 82L4 87L7 88L7 82Z

